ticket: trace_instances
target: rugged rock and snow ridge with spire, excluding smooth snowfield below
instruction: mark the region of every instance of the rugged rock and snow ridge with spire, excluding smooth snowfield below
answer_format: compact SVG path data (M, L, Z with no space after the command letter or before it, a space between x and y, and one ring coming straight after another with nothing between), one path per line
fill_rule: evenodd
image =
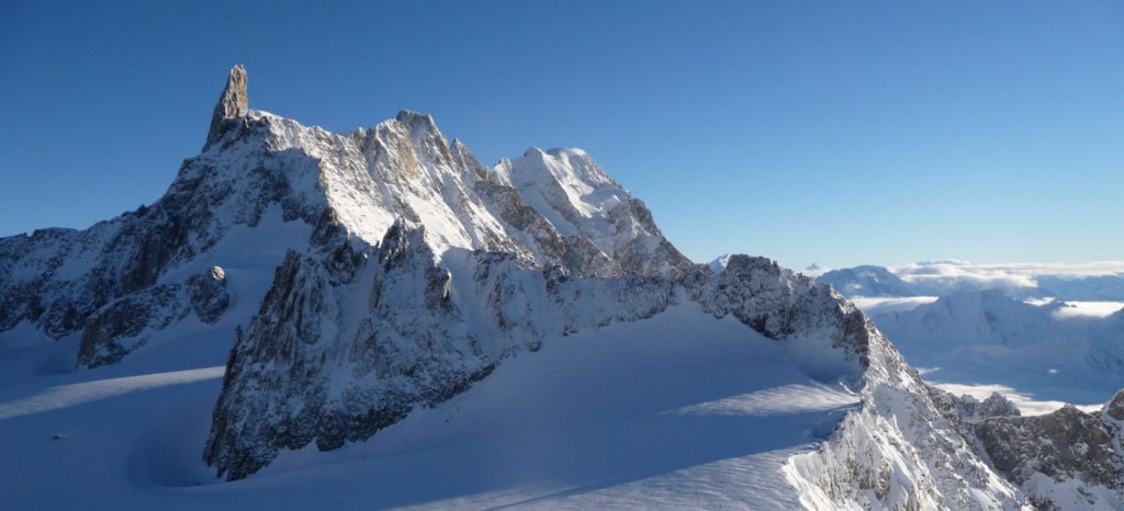
M761 257L718 273L687 259L580 149L489 167L428 116L334 134L251 109L246 85L232 70L201 154L152 206L0 239L0 331L79 338L79 366L127 361L185 322L241 323L203 447L220 477L362 441L547 338L692 301L861 394L818 451L790 460L809 508L1018 509L1079 490L1121 502L1112 407L1018 418L1001 399L934 391L830 285ZM260 294L232 298L224 254L275 225L302 235L273 247ZM228 318L235 298L260 305ZM1104 463L1023 463L1059 445Z

